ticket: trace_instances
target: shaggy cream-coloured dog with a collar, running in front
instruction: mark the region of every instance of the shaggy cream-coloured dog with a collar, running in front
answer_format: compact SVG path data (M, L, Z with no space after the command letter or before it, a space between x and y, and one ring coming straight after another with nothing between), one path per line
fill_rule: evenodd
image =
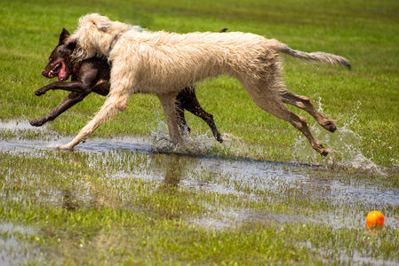
M261 109L289 121L310 145L322 155L328 150L310 132L307 120L291 112L283 103L298 106L313 115L324 129L336 127L328 117L315 110L309 98L285 90L281 78L280 52L299 59L313 60L350 68L347 59L323 53L291 50L286 44L260 35L241 32L175 34L138 32L119 21L99 14L79 20L69 42L77 42L76 60L93 56L108 57L111 88L107 100L92 121L61 149L73 149L94 129L126 108L133 93L154 93L161 101L172 142L181 141L175 115L175 97L181 88L219 74L234 76Z

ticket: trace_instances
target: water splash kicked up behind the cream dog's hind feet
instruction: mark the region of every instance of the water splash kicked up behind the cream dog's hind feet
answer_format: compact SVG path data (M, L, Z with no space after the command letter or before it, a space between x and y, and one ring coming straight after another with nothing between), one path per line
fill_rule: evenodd
M323 113L321 98L319 98L316 103L318 105L318 111ZM353 124L358 122L356 113L361 105L361 102L358 101L354 114L351 115L347 122L345 122L341 128L337 129L334 134L325 131L316 122L311 127L311 131L315 137L332 150L331 156L328 156L326 159L321 158L309 145L307 138L300 136L295 139L293 148L294 160L312 164L327 162L329 165L333 166L338 165L341 167L363 169L383 174L381 168L379 168L376 163L363 155L361 149L363 137L350 129Z

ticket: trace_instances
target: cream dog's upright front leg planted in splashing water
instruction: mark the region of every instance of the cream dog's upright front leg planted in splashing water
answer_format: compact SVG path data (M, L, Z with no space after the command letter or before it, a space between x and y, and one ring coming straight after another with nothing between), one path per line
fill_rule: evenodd
M164 108L164 115L168 124L169 136L171 137L172 143L174 145L177 145L181 142L179 126L176 119L176 95L177 92L156 95L161 101L162 107Z

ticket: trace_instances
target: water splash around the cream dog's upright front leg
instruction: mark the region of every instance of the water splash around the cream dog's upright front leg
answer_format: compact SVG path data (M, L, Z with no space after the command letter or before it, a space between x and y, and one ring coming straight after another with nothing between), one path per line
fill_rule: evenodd
M173 145L169 131L164 121L158 121L156 131L151 131L151 148L157 153L180 153L180 154L205 154L211 151L214 140L206 135L189 136L181 132L183 141Z

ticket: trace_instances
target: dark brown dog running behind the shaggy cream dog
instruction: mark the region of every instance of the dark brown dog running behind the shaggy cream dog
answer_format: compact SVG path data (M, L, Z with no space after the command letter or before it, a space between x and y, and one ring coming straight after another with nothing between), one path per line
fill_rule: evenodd
M74 65L70 59L73 51L76 48L76 43L65 43L69 36L67 29L63 28L60 34L60 41L49 58L49 63L45 66L42 74L47 78L58 77L59 82L52 82L39 90L36 90L37 96L43 95L47 90L68 90L71 93L65 98L59 106L52 109L43 118L29 121L32 126L40 127L47 121L53 121L61 113L67 111L76 103L82 101L87 95L92 92L98 93L102 96L107 96L109 93L110 83L110 69L106 59L92 58L84 59L80 64ZM65 82L71 77L71 82ZM181 130L190 132L190 128L184 116L184 110L194 113L205 121L213 136L221 143L222 137L216 124L213 121L213 115L203 110L196 98L195 87L187 87L181 90L176 97L177 110L176 118Z

